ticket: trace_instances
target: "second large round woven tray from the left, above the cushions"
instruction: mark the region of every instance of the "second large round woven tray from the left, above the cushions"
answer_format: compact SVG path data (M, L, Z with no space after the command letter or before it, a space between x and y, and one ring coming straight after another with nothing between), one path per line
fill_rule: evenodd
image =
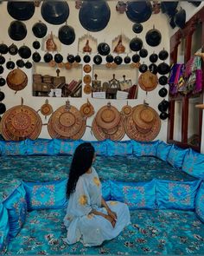
M59 136L70 138L80 131L82 123L83 118L77 108L62 106L50 116L48 127L52 125L52 128Z

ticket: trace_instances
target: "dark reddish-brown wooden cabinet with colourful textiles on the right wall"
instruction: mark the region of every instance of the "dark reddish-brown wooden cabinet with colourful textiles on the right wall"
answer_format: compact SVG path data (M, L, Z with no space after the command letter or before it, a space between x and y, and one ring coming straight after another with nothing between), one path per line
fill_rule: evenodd
M168 141L183 148L201 151L204 72L204 7L170 39L170 59L174 66L169 77ZM174 67L180 79L171 80ZM178 77L178 75L176 75Z

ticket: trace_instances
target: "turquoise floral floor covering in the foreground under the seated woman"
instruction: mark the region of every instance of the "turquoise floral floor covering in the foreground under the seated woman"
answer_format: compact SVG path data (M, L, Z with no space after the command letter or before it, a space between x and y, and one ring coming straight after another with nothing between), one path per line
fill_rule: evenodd
M11 241L7 255L204 254L204 225L194 212L131 211L131 225L114 240L93 247L85 247L80 242L69 246L62 240L67 234L63 225L65 213L65 209L30 212L21 233Z

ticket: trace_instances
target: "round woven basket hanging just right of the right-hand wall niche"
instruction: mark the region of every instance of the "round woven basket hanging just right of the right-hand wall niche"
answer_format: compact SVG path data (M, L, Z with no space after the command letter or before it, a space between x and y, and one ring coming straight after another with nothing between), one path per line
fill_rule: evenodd
M156 89L158 84L158 77L148 70L139 76L138 83L141 89L144 91L151 91Z

